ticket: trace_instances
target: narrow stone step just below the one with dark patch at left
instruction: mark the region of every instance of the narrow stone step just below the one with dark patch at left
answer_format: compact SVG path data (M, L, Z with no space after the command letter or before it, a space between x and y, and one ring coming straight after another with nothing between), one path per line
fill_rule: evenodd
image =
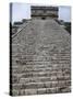
M17 69L17 68L20 68L21 67L21 69L25 69L25 68L42 68L42 69L45 69L45 68L48 68L48 69L58 69L58 68L66 68L66 69L70 69L70 67L71 67L71 65L70 64L60 64L60 65L58 65L58 64L51 64L51 63L49 63L48 65L23 65L23 66L20 66L20 65L13 65L12 66L12 68L13 69Z

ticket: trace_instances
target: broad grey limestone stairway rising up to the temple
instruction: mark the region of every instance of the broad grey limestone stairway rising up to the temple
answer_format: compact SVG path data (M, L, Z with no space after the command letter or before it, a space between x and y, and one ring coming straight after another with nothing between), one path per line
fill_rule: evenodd
M53 18L32 18L12 35L11 91L12 96L71 91L70 33Z

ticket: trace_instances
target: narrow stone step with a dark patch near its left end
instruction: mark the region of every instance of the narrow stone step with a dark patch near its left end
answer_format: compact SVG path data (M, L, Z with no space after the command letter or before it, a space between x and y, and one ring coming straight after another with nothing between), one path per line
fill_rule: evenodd
M38 59L32 59L32 61L26 61L26 59L14 59L14 62L17 62L20 65L35 65L35 64L48 64L48 63L70 63L70 58L57 58L57 59L52 59L52 58L47 58L47 57L44 57L44 61L40 61L40 58ZM26 64L25 64L26 63Z

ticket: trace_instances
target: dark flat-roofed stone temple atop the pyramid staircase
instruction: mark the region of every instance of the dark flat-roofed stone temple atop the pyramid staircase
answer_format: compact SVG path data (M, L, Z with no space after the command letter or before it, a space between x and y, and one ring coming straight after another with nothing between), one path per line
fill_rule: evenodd
M31 7L32 14L34 19L58 19L58 7Z

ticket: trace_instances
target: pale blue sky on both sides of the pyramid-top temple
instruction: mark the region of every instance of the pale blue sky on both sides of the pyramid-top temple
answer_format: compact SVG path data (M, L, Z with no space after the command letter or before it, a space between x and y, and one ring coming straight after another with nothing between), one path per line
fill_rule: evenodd
M71 8L59 7L59 20L65 22L71 21ZM12 4L12 23L15 21L22 21L22 19L31 19L31 4L13 3Z

